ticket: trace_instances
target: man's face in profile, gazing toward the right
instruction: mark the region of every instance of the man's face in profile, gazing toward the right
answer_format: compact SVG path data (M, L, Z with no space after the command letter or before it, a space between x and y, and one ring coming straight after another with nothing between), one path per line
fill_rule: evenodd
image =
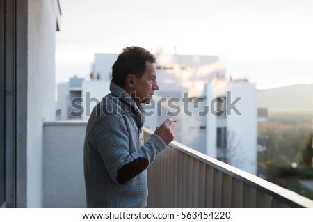
M154 90L159 90L157 84L157 70L155 64L150 61L145 62L145 73L134 78L134 101L139 103L150 103Z

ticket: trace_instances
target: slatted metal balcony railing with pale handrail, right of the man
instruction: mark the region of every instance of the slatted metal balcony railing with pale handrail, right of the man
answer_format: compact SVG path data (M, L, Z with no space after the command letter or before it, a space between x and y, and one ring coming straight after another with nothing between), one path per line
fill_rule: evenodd
M145 139L152 134L145 129ZM147 207L313 207L313 201L177 142L148 168Z

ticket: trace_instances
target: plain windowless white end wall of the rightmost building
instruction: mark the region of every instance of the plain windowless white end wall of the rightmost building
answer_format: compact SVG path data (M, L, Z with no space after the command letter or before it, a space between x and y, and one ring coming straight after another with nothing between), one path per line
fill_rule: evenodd
M227 132L234 133L234 142L240 145L235 150L234 161L243 171L257 175L257 90L255 84L231 82L228 85L232 102L241 115L232 112L227 116Z

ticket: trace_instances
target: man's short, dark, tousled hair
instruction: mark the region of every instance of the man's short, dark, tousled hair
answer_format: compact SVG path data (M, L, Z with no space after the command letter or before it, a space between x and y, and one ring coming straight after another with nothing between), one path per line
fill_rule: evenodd
M157 59L142 47L125 47L112 66L112 81L122 87L128 74L140 78L145 73L146 61L155 63Z

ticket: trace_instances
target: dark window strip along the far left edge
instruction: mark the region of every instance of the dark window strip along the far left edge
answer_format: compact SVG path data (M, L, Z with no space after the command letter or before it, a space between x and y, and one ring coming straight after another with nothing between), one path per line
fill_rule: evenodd
M15 207L16 6L0 0L0 207Z

